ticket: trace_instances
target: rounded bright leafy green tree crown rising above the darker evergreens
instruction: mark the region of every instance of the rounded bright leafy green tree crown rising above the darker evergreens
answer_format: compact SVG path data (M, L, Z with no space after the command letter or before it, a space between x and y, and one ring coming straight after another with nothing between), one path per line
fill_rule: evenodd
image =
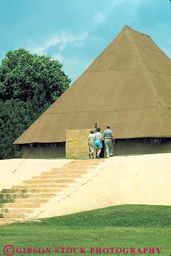
M35 90L41 87L46 101L54 103L70 82L59 61L25 49L10 50L0 66L0 99L27 101L33 99Z

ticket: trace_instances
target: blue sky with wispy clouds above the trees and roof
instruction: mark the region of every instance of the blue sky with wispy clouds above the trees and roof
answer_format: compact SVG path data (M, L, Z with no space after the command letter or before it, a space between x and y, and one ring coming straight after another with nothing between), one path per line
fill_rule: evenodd
M59 60L75 81L124 25L171 57L169 0L1 0L0 61L25 48Z

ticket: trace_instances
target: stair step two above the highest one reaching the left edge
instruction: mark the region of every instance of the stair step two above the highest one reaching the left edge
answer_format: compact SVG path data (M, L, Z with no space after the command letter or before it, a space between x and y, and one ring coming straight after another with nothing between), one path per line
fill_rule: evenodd
M35 180L23 180L23 183L27 184L55 184L55 183L76 183L74 179L35 179Z

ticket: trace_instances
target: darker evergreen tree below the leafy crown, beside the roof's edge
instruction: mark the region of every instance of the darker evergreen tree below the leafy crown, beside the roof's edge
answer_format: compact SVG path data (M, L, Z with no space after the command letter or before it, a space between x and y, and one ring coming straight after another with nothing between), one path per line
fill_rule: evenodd
M47 108L45 92L36 90L33 100L26 103L21 100L11 99L3 102L0 100L0 159L22 157L20 147L13 142L17 139ZM15 153L15 155L14 155Z

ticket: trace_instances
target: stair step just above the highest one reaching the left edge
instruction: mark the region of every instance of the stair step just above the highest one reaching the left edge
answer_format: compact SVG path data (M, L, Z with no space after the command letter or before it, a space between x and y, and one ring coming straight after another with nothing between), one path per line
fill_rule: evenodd
M20 186L13 186L12 189L21 189L21 188L67 188L66 184L29 184L29 185L20 185ZM61 190L59 190L61 191Z

